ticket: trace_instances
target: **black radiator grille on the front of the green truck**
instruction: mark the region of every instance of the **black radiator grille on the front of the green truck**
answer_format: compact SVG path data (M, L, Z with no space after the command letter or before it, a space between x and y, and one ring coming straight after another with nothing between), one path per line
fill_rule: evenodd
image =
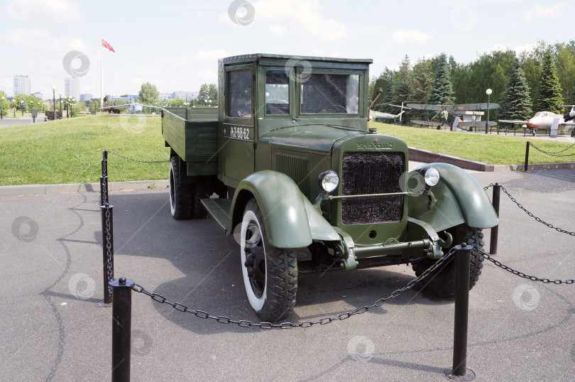
M402 192L400 177L404 171L403 153L344 153L342 195ZM403 216L403 195L344 199L341 208L344 224L399 222Z

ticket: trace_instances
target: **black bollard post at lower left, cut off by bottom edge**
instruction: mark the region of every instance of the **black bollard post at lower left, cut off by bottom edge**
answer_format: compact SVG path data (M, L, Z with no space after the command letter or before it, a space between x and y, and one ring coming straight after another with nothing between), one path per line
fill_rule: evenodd
M114 288L112 305L112 382L130 381L133 280L121 277L110 281Z

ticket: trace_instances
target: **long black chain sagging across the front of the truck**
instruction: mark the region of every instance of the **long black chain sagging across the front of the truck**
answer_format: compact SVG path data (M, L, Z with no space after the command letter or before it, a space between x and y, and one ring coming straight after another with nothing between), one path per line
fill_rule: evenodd
M423 278L425 278L427 275L429 275L429 273L432 273L433 271L435 271L435 269L442 266L443 263L445 263L447 260L449 260L449 258L451 258L451 256L453 256L453 253L455 251L456 251L456 249L452 248L451 250L449 250L449 252L447 252L445 254L445 256L440 258L436 263L434 263L431 267L429 267L426 271L424 271L420 275L420 277L411 280L403 288L395 290L393 293L391 293L386 298L380 298L379 300L376 300L376 302L373 302L373 304L371 304L371 305L358 307L353 312L344 312L344 313L341 313L341 315L337 315L336 317L324 317L321 320L317 320L317 321L302 321L302 322L297 322L295 324L292 322L282 322L281 324L273 324L271 322L251 322L248 320L232 320L231 318L225 317L225 316L213 316L213 315L209 315L209 313L204 312L202 310L192 310L180 302L170 302L163 295L158 295L158 293L149 292L148 290L143 288L141 285L134 284L132 289L138 293L143 293L144 295L150 296L150 298L152 300L154 300L155 302L159 302L160 304L172 305L172 307L175 310L179 310L180 312L192 313L192 315L195 315L196 317L203 318L204 320L207 320L207 319L215 320L221 324L236 324L240 327L260 327L261 329L290 329L292 327L311 327L314 324L324 325L324 324L329 324L331 322L338 321L338 320L346 320L347 318L349 318L351 316L361 315L373 307L379 307L379 306L383 305L386 301L388 301L392 298L396 298L396 297L398 297L398 295L405 292L405 290L412 288L413 285L415 285L416 283L419 283Z

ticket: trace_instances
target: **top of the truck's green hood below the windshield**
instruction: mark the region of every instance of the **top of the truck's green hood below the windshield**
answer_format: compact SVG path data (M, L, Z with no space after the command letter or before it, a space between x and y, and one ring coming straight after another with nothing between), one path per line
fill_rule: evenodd
M367 131L326 125L291 126L269 131L260 137L270 146L290 148L295 151L322 151L329 153L341 138L361 136Z

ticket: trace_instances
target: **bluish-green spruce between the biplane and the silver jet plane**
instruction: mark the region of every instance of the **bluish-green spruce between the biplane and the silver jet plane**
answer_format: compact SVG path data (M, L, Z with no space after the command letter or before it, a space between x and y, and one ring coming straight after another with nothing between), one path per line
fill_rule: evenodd
M530 89L517 59L513 64L511 77L506 88L500 101L499 118L520 121L529 119L532 116Z

